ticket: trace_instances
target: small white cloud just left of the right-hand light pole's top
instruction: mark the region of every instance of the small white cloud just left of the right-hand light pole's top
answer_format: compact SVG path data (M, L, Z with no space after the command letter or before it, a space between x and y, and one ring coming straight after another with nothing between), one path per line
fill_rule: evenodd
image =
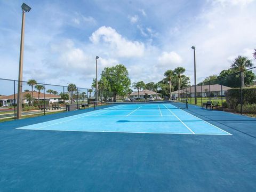
M177 65L182 63L180 55L174 51L169 53L163 52L160 57L158 57L159 67L169 66L170 68L175 68Z

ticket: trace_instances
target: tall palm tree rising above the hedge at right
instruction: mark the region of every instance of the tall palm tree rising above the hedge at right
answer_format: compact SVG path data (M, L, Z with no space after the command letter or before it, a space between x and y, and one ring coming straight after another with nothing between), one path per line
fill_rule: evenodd
M252 67L253 63L250 59L247 57L243 57L241 55L238 56L238 58L235 59L235 61L231 64L231 68L241 71L241 79L242 79L242 87L244 87L244 70L247 67Z

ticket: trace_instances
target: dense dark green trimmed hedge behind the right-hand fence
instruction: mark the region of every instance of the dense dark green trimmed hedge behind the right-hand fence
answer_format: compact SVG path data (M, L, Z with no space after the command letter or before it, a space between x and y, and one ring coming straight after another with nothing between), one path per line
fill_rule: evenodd
M227 90L225 93L227 106L230 109L235 109L240 103L240 88ZM242 88L242 104L249 105L256 103L256 87Z

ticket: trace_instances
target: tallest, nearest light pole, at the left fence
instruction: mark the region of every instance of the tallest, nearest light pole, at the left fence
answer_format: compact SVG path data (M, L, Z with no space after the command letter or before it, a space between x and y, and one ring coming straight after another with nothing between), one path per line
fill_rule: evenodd
M18 81L18 98L17 98L17 119L21 119L22 111L22 77L23 77L23 52L24 52L24 29L25 29L25 13L29 12L31 8L22 3L22 24L20 37L20 62L19 62L19 81Z

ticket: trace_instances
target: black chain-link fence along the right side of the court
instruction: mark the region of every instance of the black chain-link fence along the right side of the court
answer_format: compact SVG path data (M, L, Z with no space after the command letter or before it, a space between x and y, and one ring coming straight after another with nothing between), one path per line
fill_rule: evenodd
M187 98L191 105L210 102L211 109L256 115L256 67L222 76L172 92L172 98Z

